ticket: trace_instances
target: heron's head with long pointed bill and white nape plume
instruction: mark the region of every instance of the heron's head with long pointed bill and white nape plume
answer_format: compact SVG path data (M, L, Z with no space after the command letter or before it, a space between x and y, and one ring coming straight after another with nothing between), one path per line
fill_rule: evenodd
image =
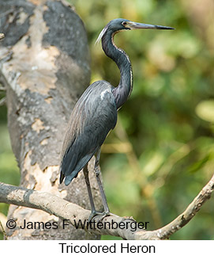
M120 32L122 30L131 30L131 29L173 29L171 27L161 26L161 25L150 25L144 23L138 23L129 21L126 19L118 18L110 21L105 28L100 32L96 42L102 39L102 37L110 32L111 34L115 34L116 32Z

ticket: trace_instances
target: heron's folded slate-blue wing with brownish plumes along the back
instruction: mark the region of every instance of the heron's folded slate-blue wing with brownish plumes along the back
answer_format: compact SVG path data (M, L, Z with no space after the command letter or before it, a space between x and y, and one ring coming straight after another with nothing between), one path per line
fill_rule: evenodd
M93 83L84 91L69 120L62 147L61 178L69 185L103 144L108 132L115 128L117 108L111 85Z

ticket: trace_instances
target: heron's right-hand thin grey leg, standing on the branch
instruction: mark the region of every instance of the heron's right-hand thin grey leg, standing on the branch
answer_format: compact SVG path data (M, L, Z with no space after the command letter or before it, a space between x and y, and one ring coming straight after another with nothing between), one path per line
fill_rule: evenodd
M100 170L99 170L100 151L101 150L100 150L100 147L99 147L99 150L96 153L96 160L95 160L94 171L95 171L95 174L96 174L96 180L97 180L97 183L99 185L99 191L100 191L100 194L101 194L101 197L102 197L102 201L103 201L104 213L105 213L105 215L108 215L110 213L110 210L109 210L108 205L107 205L107 197L106 197L106 195L104 193L102 181L99 178L99 174L100 174Z

